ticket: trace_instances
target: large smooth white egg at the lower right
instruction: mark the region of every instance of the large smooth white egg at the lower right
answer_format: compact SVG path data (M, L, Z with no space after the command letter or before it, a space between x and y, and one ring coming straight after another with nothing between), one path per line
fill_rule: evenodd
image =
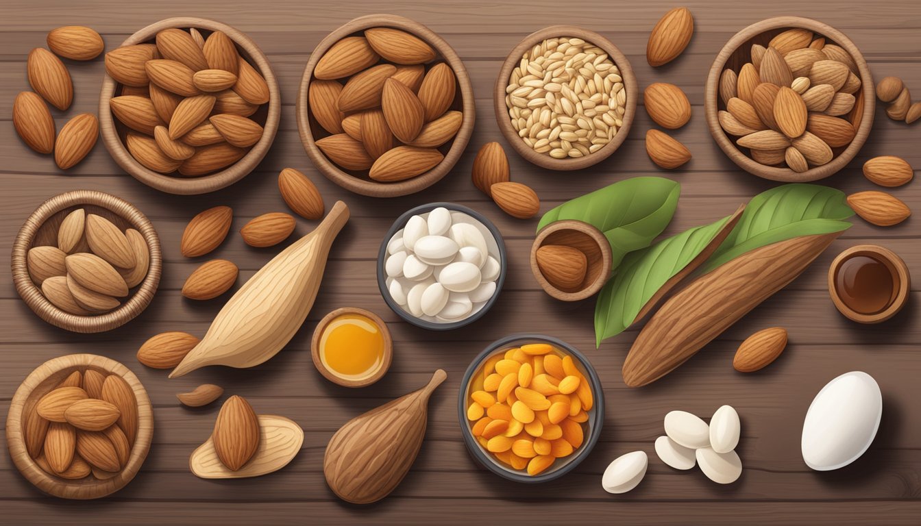
M863 371L845 373L815 395L803 422L803 460L816 471L856 461L869 449L882 417L880 385Z

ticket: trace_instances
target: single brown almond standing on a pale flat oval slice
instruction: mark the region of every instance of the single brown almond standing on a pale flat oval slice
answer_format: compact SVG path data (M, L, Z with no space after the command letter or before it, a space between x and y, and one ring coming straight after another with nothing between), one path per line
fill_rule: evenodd
M259 448L259 419L250 403L233 395L221 406L211 434L217 458L231 471L238 471Z

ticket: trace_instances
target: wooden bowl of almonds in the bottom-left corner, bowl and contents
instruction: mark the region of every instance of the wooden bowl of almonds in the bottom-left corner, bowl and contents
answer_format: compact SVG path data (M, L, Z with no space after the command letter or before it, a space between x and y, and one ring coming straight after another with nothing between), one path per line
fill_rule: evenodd
M111 495L150 450L154 411L140 380L107 357L53 358L29 374L6 416L10 457L54 497Z

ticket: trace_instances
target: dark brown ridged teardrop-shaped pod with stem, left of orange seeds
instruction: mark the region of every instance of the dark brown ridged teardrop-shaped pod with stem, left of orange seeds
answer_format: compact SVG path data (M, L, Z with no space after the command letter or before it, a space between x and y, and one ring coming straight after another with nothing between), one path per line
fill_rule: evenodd
M428 398L448 374L438 369L428 385L340 427L326 446L323 474L337 497L369 504L400 484L426 437Z

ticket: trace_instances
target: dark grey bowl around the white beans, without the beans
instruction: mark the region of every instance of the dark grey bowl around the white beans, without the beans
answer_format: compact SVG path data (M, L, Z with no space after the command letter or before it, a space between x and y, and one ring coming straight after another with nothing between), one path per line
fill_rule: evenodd
M462 212L468 216L472 216L474 219L482 223L487 230L489 230L495 239L495 244L499 247L499 277L495 280L495 293L493 294L493 297L486 301L482 309L474 312L471 316L468 316L463 320L449 321L445 323L420 320L419 318L413 316L413 314L410 312L403 310L400 305L397 305L396 301L393 301L393 298L391 298L391 292L387 288L387 272L384 270L384 263L387 261L387 244L390 242L393 235L397 233L397 230L405 227L410 217L417 216L419 214L425 214L426 212L431 212L439 206L444 206L451 211ZM380 250L378 251L378 288L380 289L380 296L382 296L384 301L387 302L387 306L396 312L397 315L400 316L403 320L412 323L416 327L422 327L423 329L428 329L430 331L450 331L451 329L457 329L459 327L469 325L473 321L479 320L488 310L492 309L493 305L495 304L495 300L499 297L499 293L502 292L502 285L506 281L507 266L508 260L506 255L506 243L502 239L502 234L499 233L499 229L495 228L493 222L487 219L486 216L463 205L455 205L454 203L429 203L427 205L419 205L415 208L407 210L403 213L402 216L398 217L397 220L393 222L393 225L391 225L391 228L387 230L387 234L380 242Z

